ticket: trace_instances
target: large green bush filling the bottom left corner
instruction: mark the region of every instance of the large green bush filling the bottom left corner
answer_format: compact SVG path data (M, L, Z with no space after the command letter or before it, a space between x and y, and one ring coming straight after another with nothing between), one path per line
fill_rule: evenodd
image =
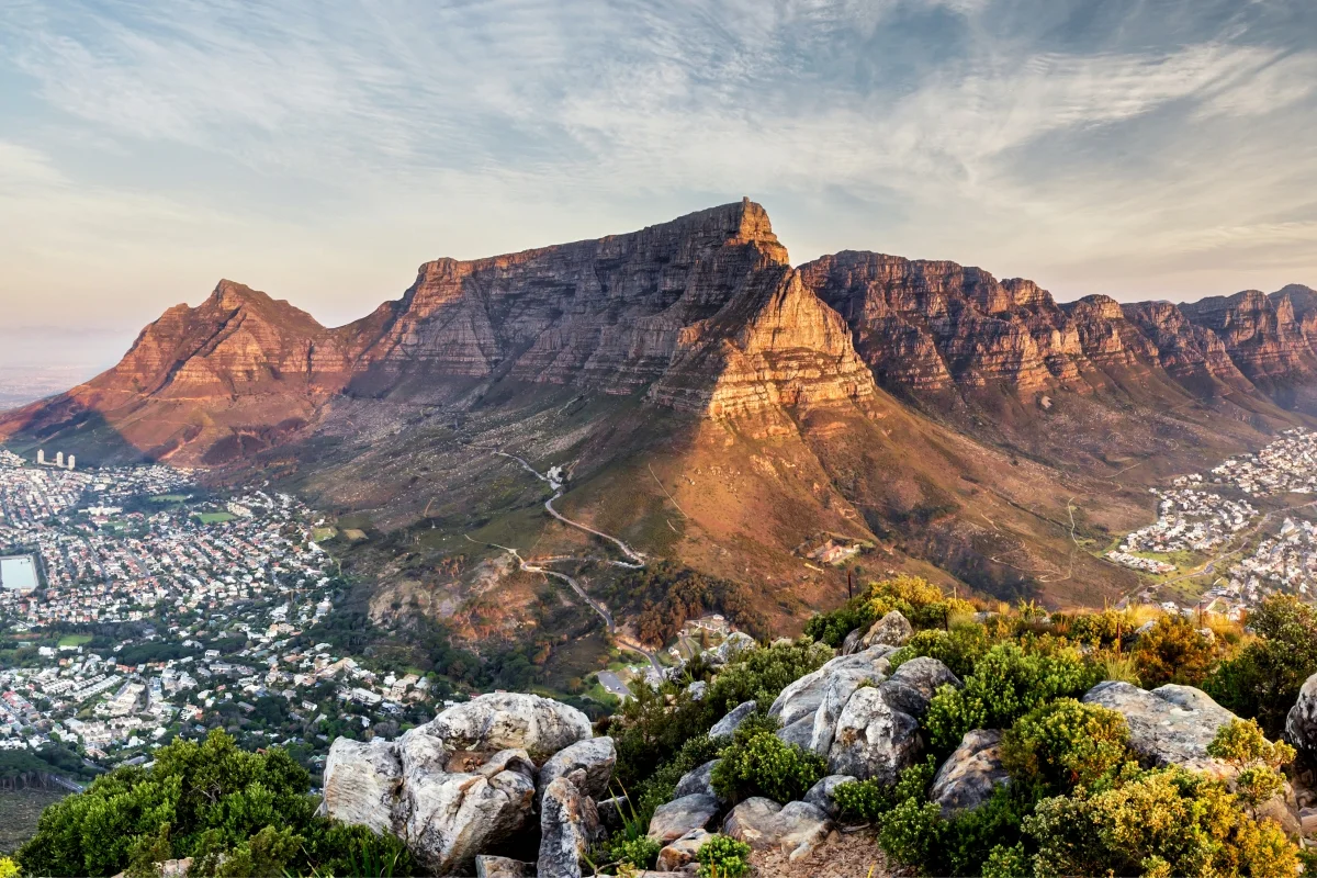
M182 857L196 860L198 875L345 873L362 853L415 869L398 839L315 816L309 788L283 749L245 753L216 729L203 744L161 748L151 769L116 769L50 806L17 858L41 875L141 873Z

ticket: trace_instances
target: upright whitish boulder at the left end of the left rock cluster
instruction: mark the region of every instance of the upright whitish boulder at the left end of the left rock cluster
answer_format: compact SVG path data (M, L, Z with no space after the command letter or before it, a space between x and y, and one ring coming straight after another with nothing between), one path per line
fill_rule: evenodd
M344 823L391 832L402 777L402 761L391 741L335 738L325 757L325 812Z

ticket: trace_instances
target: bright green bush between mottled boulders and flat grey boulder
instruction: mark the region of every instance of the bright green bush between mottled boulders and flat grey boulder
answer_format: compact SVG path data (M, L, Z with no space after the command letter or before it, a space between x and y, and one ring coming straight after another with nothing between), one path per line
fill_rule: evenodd
M934 749L950 753L971 729L1010 728L1039 704L1081 695L1101 675L1073 649L1047 649L1026 653L1015 644L997 644L979 659L964 688L943 686L923 720Z

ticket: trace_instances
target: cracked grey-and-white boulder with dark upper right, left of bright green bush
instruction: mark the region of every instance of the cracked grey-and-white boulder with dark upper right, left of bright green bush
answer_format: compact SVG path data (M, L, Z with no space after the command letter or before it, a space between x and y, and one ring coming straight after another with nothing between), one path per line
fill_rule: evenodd
M855 690L838 717L828 770L896 783L923 752L919 719L944 684L960 686L960 681L938 659L919 657L877 686Z

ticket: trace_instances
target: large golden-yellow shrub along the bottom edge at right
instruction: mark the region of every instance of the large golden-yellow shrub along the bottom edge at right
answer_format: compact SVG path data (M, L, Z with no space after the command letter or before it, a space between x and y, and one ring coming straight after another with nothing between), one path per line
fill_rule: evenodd
M1025 819L1039 875L1292 877L1280 827L1255 820L1218 781L1184 769L1133 771L1098 795L1054 796Z

